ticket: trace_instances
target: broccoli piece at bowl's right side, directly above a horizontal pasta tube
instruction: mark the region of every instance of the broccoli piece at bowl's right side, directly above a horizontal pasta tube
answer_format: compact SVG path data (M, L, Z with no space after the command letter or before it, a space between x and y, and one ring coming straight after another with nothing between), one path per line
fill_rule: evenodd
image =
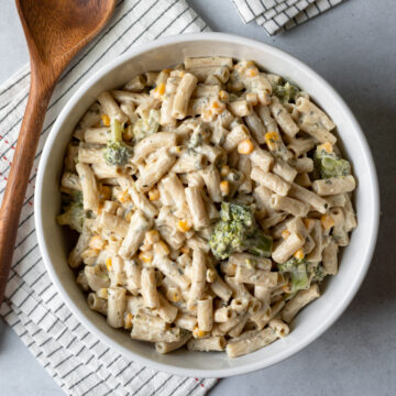
M314 153L315 169L320 178L340 177L351 174L351 164L336 153L317 148Z

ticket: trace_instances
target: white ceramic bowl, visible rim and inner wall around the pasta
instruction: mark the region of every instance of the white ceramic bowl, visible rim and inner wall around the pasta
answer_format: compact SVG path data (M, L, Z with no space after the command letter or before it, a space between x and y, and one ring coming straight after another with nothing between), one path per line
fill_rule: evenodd
M58 186L67 143L77 121L98 95L121 86L135 74L176 65L185 56L205 55L252 59L266 70L297 82L338 125L344 153L352 161L358 179L355 208L359 227L352 234L351 244L342 252L339 274L328 282L323 296L297 316L287 338L234 360L228 359L226 353L185 350L160 355L152 344L132 341L127 332L110 328L102 316L88 308L77 287L66 263L68 252L64 231L55 222L55 216L61 210ZM125 358L161 371L196 377L224 377L263 369L293 355L317 339L340 317L356 294L369 268L378 228L378 186L373 158L361 128L340 96L293 56L257 41L220 33L167 37L132 48L85 82L61 112L45 143L34 205L38 244L46 268L78 319Z

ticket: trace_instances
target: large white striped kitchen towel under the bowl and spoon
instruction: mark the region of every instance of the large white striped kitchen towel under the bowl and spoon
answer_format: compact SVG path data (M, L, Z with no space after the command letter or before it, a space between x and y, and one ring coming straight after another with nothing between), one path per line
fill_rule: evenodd
M76 89L131 46L160 36L209 30L184 0L124 0L103 32L74 61L52 97L23 206L0 315L68 395L204 395L217 380L182 377L129 361L68 310L45 272L33 216L34 184L45 139ZM29 92L25 66L0 87L0 198Z

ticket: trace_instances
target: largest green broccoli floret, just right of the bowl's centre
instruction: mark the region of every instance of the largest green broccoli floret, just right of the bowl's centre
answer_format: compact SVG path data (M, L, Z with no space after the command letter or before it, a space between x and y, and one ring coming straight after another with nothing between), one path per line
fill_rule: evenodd
M272 251L272 239L257 228L250 207L223 202L209 245L218 260L242 251L267 257Z

